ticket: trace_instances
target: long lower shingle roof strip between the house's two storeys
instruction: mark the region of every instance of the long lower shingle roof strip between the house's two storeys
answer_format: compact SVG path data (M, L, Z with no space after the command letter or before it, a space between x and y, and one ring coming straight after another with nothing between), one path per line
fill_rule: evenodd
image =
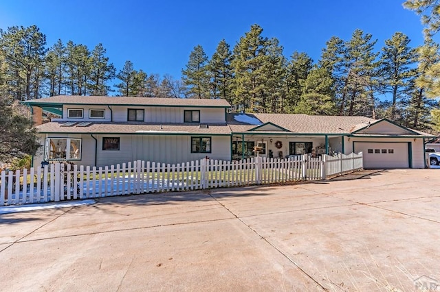
M65 122L63 122L65 123ZM208 128L199 125L184 124L145 124L145 123L91 123L87 127L63 126L63 123L50 122L37 126L41 133L70 133L70 134L206 134L230 135L230 128L225 124L209 125Z

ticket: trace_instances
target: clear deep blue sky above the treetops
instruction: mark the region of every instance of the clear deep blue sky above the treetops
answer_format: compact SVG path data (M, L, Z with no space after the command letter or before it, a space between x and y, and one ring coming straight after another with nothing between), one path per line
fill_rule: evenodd
M0 28L36 25L48 47L58 38L89 49L101 42L118 70L131 60L135 69L177 79L196 45L211 56L221 39L232 48L255 23L280 40L287 57L303 51L318 60L331 36L349 40L357 28L373 34L377 49L394 32L416 47L423 27L403 1L2 0Z

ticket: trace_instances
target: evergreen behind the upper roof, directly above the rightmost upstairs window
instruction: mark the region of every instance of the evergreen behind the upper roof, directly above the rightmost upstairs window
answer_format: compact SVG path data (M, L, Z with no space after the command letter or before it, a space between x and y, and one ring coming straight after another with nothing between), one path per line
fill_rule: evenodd
M182 80L188 88L191 98L209 98L208 56L201 45L197 45L190 53L186 69L182 70Z

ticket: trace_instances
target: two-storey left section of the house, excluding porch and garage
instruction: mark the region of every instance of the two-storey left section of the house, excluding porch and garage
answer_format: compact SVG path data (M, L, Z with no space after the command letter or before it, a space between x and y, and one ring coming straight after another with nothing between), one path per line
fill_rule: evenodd
M62 114L37 126L44 147L34 165L58 159L104 166L230 158L230 104L223 99L56 96L27 104Z

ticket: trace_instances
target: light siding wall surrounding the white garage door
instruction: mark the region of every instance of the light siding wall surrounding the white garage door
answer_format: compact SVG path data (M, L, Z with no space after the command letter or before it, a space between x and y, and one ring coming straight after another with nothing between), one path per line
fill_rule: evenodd
M415 141L414 141L415 140ZM369 142L377 143L380 148L380 143L411 143L412 151L412 168L420 169L425 167L423 158L423 138L345 138L344 152L350 154L353 152L353 142ZM356 151L356 149L355 149Z

